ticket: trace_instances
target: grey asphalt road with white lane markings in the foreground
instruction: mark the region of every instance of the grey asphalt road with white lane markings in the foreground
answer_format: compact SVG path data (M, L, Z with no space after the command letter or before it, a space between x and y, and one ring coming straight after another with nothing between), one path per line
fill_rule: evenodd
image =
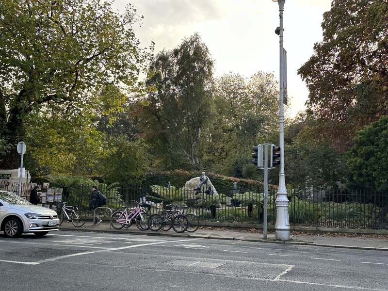
M0 246L1 291L388 291L385 251L71 231Z

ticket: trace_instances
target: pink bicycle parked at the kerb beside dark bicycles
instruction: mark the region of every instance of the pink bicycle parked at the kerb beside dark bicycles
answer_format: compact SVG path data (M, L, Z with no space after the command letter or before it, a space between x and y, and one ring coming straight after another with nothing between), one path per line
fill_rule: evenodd
M123 227L128 228L132 225L133 221L135 221L137 228L140 230L148 229L147 221L149 214L146 210L140 208L138 201L132 200L132 202L135 202L137 206L130 209L129 212L127 211L128 206L121 207L124 211L117 210L113 212L111 216L111 225L114 229L121 229Z

